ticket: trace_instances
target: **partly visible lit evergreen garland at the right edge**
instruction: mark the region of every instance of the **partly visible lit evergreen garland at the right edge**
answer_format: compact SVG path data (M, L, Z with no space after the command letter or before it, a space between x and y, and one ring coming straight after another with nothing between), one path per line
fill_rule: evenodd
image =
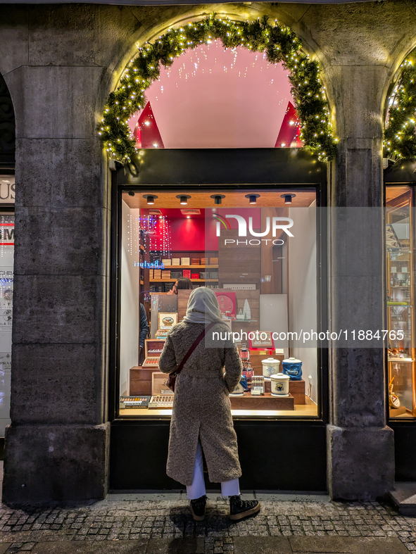
M401 73L391 96L389 125L384 132L384 156L416 158L416 51L401 64Z

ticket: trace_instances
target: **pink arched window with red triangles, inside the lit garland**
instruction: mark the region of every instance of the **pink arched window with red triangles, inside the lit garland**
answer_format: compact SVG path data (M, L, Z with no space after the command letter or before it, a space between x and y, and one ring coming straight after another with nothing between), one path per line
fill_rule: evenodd
M183 53L130 118L137 148L302 146L289 72L265 53L220 41Z

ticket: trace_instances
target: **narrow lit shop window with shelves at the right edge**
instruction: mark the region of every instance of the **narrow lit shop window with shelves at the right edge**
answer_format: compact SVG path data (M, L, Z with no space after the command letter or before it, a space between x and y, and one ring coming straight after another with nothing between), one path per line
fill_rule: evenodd
M414 189L386 187L390 417L415 417Z

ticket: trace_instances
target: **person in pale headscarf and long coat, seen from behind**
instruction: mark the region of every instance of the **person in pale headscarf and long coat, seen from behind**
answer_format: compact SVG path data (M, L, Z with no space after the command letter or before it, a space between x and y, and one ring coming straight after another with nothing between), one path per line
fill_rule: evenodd
M203 455L210 481L221 483L222 496L229 496L232 520L260 510L258 501L241 500L239 490L241 467L229 392L241 379L241 360L237 346L217 340L217 332L227 334L229 327L215 293L199 287L191 292L184 320L172 327L159 360L160 371L172 373L186 359L175 381L166 472L187 486L196 521L203 520L207 501Z

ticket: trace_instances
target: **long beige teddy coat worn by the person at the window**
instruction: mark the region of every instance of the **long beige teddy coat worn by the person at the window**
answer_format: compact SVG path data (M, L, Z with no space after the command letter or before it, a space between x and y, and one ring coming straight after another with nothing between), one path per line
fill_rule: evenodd
M175 325L160 355L160 371L174 371L203 328L203 323ZM242 365L232 341L218 341L216 336L212 341L215 332L225 336L229 327L216 323L176 379L166 472L184 485L192 484L198 436L211 483L241 476L228 395L241 379Z

